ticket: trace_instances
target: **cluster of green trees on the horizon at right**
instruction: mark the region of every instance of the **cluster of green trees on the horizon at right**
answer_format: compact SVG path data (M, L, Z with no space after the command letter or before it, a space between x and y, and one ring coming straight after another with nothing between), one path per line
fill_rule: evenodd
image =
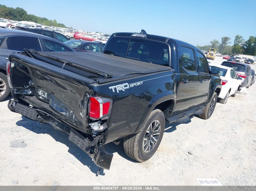
M222 37L221 42L217 39L210 41L209 45L198 46L201 50L209 50L209 48L214 48L217 52L221 54L246 54L255 56L256 55L256 36L250 36L248 40L237 34L234 39L234 44L230 44L230 37Z

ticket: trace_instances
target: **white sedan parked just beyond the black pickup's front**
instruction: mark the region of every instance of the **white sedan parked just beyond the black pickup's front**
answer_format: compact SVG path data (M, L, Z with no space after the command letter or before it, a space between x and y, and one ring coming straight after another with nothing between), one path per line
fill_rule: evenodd
M218 97L220 98L220 103L225 104L227 103L229 96L236 96L237 91L240 89L242 78L236 75L233 68L215 64L210 64L210 66L217 66L220 68L220 73L218 75L220 75L221 78L222 88Z

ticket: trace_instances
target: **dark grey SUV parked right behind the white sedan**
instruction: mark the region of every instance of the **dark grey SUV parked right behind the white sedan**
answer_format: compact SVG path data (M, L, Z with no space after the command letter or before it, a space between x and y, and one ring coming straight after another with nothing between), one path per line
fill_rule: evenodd
M250 65L239 63L239 62L229 62L229 61L224 61L221 63L221 65L233 68L236 74L242 78L241 88L243 87L250 88L250 84L252 80Z

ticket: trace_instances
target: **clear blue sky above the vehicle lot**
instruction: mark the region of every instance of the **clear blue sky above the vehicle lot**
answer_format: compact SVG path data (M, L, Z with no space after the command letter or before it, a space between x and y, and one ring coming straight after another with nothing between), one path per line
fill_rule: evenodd
M211 2L211 3L210 3ZM103 33L140 32L167 36L193 45L208 45L236 34L256 35L256 0L1 0L28 14Z

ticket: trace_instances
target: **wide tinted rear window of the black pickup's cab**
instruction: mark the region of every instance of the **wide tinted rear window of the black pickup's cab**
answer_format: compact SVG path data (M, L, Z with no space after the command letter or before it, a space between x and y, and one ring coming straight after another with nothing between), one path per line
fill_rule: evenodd
M142 62L170 66L169 46L158 41L113 37L109 40L104 53Z

